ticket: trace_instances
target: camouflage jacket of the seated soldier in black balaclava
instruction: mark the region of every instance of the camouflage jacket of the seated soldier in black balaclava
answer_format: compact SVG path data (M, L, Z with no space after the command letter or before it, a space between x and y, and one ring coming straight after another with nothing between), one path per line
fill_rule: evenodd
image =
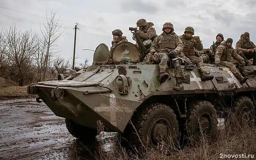
M244 61L244 58L239 56L234 48L228 47L226 41L222 41L218 48L216 49L216 53L214 55L215 62L228 61L231 62L231 57L238 60L239 62Z

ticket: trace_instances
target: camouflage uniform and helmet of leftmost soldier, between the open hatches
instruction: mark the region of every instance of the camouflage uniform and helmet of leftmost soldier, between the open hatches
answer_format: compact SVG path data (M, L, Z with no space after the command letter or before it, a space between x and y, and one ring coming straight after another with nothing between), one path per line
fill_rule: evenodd
M123 32L119 29L113 30L112 35L113 35L113 37L114 37L114 35L118 35L119 38L117 40L114 40L114 38L113 38L113 41L111 42L112 46L110 47L109 62L111 62L112 53L113 53L114 49L116 48L116 46L118 46L119 44L122 44L124 42L128 42L128 40L126 39L126 36L122 36Z

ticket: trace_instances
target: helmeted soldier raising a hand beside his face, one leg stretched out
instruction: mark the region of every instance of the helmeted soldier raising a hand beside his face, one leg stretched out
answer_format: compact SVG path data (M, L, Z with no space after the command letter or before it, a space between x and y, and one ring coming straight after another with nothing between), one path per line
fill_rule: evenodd
M194 48L201 51L203 50L203 45L200 41L199 36L194 36L194 28L193 27L186 27L184 34L180 36L180 39L182 40L184 44L184 48L180 54L181 58L184 58L187 61L192 60L196 63L196 65L200 68L200 74L201 74L201 80L212 80L214 76L208 75L207 71L204 67L204 61L197 57L194 52Z

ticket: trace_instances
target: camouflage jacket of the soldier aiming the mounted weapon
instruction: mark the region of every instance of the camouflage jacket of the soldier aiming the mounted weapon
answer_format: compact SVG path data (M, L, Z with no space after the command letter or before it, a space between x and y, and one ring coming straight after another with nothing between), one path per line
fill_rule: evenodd
M154 38L156 38L156 30L152 26L154 26L154 23L147 22L147 25L144 28L144 30L138 31L138 36L141 38L142 42L144 40L152 40L153 41ZM134 36L133 36L133 40L135 40Z

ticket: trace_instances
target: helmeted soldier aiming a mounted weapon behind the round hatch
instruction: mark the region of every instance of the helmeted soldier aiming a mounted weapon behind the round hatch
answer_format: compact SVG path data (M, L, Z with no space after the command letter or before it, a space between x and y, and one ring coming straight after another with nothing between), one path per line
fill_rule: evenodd
M145 19L139 19L137 22L137 27L139 27L139 31L137 32L138 36L141 38L142 42L144 40L152 40L156 38L156 30L154 27L154 23L146 22ZM135 40L134 36L132 37Z

